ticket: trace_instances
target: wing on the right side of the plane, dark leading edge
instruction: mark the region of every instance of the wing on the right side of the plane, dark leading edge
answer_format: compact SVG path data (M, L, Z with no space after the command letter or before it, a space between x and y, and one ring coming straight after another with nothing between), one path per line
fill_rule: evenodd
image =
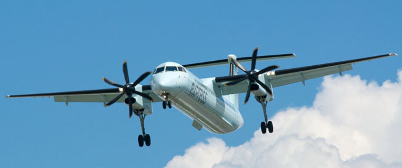
M384 57L391 57L396 56L397 54L385 54L385 55L378 55L373 57L365 57L361 59L353 59L347 61L339 61L334 63L326 63L326 64L319 64L319 65L311 65L307 67L298 67L298 68L291 68L291 69L283 69L277 71L269 71L264 73L265 83L272 84L272 87L279 87L283 85L288 85L291 83L302 82L308 79L313 79L317 77L322 77L326 75L331 75L334 73L352 70L353 63L359 63L362 61L370 61L373 59L379 59ZM216 83L225 83L229 81L235 81L236 79L241 79L245 75L235 75L235 76L226 76L226 77L216 77ZM236 85L232 86L219 86L222 90L222 94L234 94L234 93L244 93L247 91L247 80L244 80Z

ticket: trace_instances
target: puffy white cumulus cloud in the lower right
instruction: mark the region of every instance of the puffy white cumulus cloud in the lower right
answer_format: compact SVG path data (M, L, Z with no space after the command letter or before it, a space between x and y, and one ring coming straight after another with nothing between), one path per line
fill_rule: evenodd
M240 146L210 138L174 156L166 168L402 167L402 71L379 85L359 76L324 77L311 107L271 120L273 134L254 132Z

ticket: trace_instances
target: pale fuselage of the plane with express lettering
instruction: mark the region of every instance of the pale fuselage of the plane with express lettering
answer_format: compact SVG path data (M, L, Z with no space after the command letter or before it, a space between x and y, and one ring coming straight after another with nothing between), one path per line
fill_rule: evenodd
M164 63L158 67L181 66ZM224 99L213 86L213 79L201 80L187 69L185 71L160 71L151 77L151 88L173 107L197 121L203 128L216 134L233 132L243 125L243 118L230 101ZM215 90L215 91L214 91Z

